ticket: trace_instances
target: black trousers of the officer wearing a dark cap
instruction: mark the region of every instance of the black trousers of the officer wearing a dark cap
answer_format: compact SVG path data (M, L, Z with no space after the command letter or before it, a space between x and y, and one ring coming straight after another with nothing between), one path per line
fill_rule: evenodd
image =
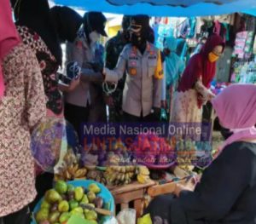
M73 125L73 128L77 131L79 139L81 139L81 124L87 123L90 114L90 106L75 106L73 104L66 103L64 115L69 123Z

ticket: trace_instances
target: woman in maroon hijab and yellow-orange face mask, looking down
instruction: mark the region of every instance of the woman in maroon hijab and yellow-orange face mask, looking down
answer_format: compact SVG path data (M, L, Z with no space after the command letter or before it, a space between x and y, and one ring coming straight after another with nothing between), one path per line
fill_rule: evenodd
M222 37L212 35L201 52L189 60L174 95L172 122L201 123L202 105L214 97L209 88L215 76L216 61L223 52Z

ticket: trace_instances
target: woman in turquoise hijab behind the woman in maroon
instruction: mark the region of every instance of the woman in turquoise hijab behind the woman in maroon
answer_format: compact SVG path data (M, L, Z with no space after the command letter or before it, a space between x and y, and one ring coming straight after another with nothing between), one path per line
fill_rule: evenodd
M171 111L172 108L172 95L173 91L177 89L177 83L181 77L185 64L176 54L177 39L174 37L166 37L164 41L164 54L165 54L165 72L166 84L163 90L166 90L167 107Z

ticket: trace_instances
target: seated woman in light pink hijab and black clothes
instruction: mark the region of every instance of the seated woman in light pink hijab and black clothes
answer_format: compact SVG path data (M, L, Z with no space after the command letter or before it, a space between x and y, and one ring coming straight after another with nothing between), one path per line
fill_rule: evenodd
M194 192L177 186L177 198L160 196L149 204L153 223L255 223L256 86L231 85L212 106L220 123L233 134L205 169ZM166 222L154 221L159 219Z

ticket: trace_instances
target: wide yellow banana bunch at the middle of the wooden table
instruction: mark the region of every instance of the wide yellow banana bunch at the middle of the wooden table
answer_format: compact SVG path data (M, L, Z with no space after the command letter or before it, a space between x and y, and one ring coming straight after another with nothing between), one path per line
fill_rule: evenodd
M135 166L108 166L105 171L105 178L108 185L129 184L136 176L137 169Z

